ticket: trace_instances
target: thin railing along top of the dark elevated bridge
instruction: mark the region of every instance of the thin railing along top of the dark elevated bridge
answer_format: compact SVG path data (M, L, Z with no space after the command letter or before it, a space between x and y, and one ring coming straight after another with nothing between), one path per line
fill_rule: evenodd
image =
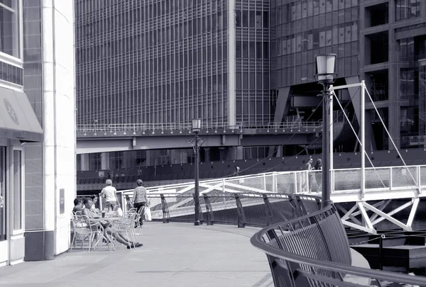
M223 123L202 123L202 130L243 130L243 129L265 129L265 130L293 130L322 128L321 121L310 122L286 122L268 123L266 125L237 124L225 125ZM166 130L191 130L191 123L126 123L126 124L87 124L77 125L77 132L116 132L116 131L166 131Z

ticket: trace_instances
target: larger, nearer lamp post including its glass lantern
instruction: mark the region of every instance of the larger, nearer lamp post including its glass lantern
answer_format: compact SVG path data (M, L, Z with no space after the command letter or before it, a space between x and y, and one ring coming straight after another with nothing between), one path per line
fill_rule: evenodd
M318 83L322 84L322 208L329 206L332 201L330 200L330 101L332 101L332 93L330 93L330 85L334 83L337 74L334 72L336 54L317 55L317 73L315 78Z

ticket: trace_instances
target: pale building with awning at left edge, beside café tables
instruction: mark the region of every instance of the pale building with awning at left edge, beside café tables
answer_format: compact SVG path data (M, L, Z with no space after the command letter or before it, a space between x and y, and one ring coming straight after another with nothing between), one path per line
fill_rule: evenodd
M75 96L67 2L0 3L0 266L53 259L69 246Z

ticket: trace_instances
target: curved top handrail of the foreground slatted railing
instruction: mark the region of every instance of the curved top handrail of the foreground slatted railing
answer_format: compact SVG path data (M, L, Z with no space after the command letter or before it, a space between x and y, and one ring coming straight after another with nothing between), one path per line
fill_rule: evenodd
M264 227L262 230L256 232L253 237L251 237L250 242L251 244L253 244L254 247L261 249L263 252L268 255L271 255L272 257L285 259L286 261L291 261L296 264L303 264L306 266L315 267L317 269L339 272L339 274L351 274L364 278L369 277L373 279L381 279L386 281L395 281L401 283L410 283L419 286L426 286L426 277L424 276L410 276L407 274L397 274L389 271L378 271L357 266L349 266L346 264L341 264L332 261L313 259L292 252L286 252L283 249L272 247L270 244L263 242L263 236L267 235L270 230L278 229L283 225L291 225L292 223L296 223L297 221L306 220L308 218L314 218L315 216L326 213L332 209L334 209L334 206L328 206L327 208L323 208L309 215L304 215L300 218L295 218L293 220L288 220L283 223L275 223L273 225L269 225L268 227ZM317 279L320 280L321 277L319 276Z

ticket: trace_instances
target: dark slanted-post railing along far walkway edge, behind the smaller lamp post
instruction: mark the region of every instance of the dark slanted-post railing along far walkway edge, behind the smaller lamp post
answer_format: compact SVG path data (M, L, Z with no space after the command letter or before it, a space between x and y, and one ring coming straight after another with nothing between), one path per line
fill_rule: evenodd
M124 212L132 206L132 196L117 192ZM194 222L195 203L193 193L148 194L151 215L154 221ZM101 198L99 207L105 206ZM316 196L291 196L287 194L263 193L204 193L200 196L200 221L237 225L244 227L267 226L290 218L320 210L320 198Z

